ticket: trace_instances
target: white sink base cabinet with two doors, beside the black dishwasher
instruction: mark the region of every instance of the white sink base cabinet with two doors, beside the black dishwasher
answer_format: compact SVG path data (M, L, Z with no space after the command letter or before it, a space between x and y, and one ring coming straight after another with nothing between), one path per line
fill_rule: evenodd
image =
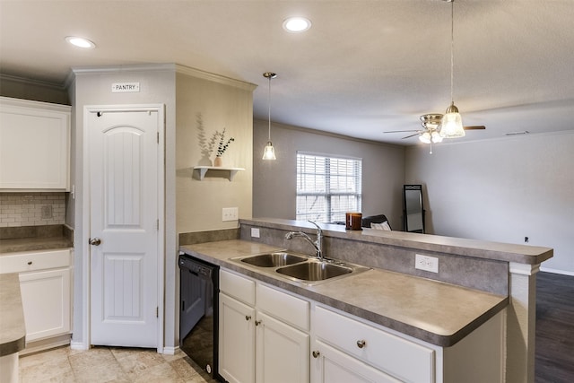
M219 373L224 379L309 382L309 301L221 270L219 302Z

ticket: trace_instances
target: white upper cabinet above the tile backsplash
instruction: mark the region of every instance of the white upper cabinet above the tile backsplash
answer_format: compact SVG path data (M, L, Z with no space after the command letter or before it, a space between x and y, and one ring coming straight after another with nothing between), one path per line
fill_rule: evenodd
M0 190L69 191L71 110L0 97Z

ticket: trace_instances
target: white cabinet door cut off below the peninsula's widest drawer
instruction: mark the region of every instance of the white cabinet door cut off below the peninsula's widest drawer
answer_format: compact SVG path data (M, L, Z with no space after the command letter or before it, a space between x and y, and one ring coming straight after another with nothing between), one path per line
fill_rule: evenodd
M382 371L320 341L313 347L313 383L399 383Z

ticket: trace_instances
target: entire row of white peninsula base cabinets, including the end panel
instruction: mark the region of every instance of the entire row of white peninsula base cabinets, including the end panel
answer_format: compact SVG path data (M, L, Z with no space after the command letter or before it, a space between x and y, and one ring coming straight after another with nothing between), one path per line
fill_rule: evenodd
M219 371L232 383L504 381L504 311L451 347L220 272Z

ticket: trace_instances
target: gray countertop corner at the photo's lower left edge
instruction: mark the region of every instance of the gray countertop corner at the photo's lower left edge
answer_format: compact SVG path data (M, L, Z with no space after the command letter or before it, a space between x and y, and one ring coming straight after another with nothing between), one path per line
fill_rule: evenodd
M26 346L26 327L18 274L0 274L0 357Z

